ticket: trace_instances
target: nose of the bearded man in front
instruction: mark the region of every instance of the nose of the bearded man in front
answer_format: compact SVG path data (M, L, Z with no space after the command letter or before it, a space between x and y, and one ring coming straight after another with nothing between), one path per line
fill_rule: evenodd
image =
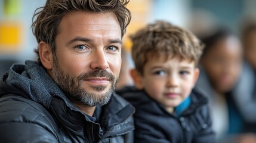
M103 50L96 50L91 56L91 69L106 70L109 68L106 53Z

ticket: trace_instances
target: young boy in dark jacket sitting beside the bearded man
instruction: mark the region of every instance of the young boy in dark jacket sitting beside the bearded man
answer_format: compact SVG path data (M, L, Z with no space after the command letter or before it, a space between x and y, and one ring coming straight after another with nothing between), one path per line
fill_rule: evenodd
M206 98L192 91L203 45L196 36L165 21L132 39L136 87L118 91L135 109L135 142L214 142Z

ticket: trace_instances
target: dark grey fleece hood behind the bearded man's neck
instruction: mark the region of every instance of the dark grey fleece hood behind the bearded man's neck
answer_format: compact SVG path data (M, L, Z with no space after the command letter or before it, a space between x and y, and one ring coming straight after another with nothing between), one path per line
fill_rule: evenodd
M21 95L47 108L50 107L53 97L58 96L70 108L77 110L45 69L35 61L26 61L26 65L13 64L10 71L1 77L0 96L5 94Z

